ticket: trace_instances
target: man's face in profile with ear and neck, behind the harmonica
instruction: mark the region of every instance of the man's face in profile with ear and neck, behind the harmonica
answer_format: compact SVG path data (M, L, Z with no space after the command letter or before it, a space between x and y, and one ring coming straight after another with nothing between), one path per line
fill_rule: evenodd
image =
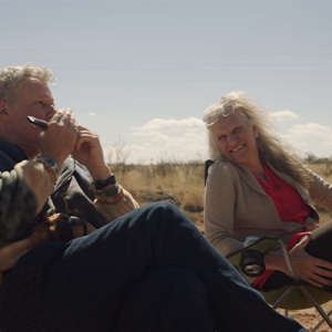
M15 105L8 106L10 123L7 129L15 134L14 142L10 143L21 147L30 157L29 154L40 152L40 129L32 127L27 116L32 115L49 122L56 112L54 100L48 84L34 79L24 80L17 89L15 96Z

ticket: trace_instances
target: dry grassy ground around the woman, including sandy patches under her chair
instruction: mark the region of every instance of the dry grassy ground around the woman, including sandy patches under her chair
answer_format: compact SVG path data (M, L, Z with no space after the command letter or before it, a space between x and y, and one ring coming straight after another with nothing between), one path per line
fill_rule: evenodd
M332 163L311 164L309 167L332 183ZM203 163L159 163L156 165L111 166L118 181L135 197L141 206L157 200L168 200L179 207L203 231L205 165ZM318 208L320 225L332 220L332 212ZM323 305L332 308L332 301ZM319 321L313 309L290 312L304 328L311 329ZM319 332L331 331L324 323Z

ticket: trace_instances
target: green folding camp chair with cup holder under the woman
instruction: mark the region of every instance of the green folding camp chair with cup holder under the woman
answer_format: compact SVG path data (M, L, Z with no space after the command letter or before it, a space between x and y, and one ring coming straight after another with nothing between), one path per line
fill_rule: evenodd
M332 309L325 313L321 308L321 304L332 300L332 292L329 290L314 288L298 280L293 272L288 250L281 240L271 237L262 237L252 245L237 251L230 257L227 257L227 259L239 271L240 260L243 252L247 250L257 250L264 256L278 245L282 249L293 281L282 286L279 289L263 291L259 290L259 292L264 297L266 301L272 305L273 309L284 309L286 315L288 315L288 310L301 310L314 307L321 314L322 319L310 332L317 331L317 329L324 321L332 329L332 322L329 318L329 315L332 313Z

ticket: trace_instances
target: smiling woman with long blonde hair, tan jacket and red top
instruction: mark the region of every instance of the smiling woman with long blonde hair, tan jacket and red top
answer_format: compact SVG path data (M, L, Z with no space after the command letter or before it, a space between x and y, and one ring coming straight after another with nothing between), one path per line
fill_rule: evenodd
M332 286L332 222L318 229L318 204L332 210L332 185L308 169L276 133L263 107L243 92L231 92L209 106L209 168L205 231L224 256L243 248L248 236L280 238L290 250L298 279ZM290 281L281 252L264 257L267 271L246 278L269 289ZM246 276L243 276L246 277Z

